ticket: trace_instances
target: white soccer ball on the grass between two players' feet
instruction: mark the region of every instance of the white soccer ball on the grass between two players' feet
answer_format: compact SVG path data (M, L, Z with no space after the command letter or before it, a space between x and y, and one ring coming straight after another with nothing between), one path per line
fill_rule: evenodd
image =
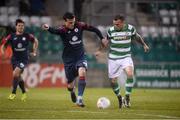
M111 105L110 100L106 97L100 97L97 101L97 107L99 109L106 109Z

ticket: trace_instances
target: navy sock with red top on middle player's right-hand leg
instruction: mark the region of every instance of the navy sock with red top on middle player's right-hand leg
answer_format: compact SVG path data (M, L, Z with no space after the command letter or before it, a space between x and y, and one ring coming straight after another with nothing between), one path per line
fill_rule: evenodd
M79 81L78 81L78 96L83 96L85 87L86 87L85 77L81 76L79 77Z

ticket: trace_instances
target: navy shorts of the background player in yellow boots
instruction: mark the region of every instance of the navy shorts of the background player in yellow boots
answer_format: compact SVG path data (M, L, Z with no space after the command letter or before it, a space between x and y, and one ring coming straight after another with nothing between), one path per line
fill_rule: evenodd
M22 71L24 71L24 68L27 66L28 62L27 61L12 61L12 67L13 70L18 67L20 68Z

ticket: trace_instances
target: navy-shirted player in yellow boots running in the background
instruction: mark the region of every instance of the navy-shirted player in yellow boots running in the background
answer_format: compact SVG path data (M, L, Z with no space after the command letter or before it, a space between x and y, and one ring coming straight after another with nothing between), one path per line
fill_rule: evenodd
M10 45L13 51L11 58L11 63L13 67L13 89L12 93L9 95L9 100L14 100L16 98L17 86L22 90L22 101L26 101L27 95L24 87L24 81L22 80L21 74L24 68L27 66L29 61L29 56L36 56L38 48L38 40L29 33L24 33L25 23L21 19L16 20L16 32L9 34L5 39L2 40L1 53L4 56L5 48ZM29 52L29 44L33 43L33 52Z

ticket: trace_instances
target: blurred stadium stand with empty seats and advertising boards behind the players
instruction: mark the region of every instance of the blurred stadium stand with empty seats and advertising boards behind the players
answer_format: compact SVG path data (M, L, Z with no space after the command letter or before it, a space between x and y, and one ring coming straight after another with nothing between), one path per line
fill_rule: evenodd
M27 87L65 86L61 38L41 30L43 23L58 26L64 12L74 12L77 19L97 26L102 33L112 25L113 16L123 14L144 37L148 54L132 44L136 87L180 88L180 1L179 0L1 0L0 40L14 28L16 18L26 23L26 31L39 40L38 57L24 71ZM108 87L106 53L95 58L98 38L84 33L88 59L88 87ZM0 86L11 86L11 50L0 60Z

